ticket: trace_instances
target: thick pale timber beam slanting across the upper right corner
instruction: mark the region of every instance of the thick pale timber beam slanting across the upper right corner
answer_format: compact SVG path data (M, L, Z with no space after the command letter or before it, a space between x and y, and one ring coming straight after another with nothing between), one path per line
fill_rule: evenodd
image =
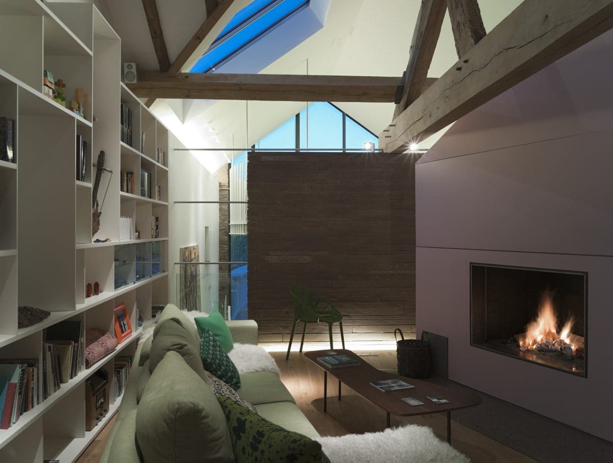
M402 152L613 28L613 0L525 0L379 135Z

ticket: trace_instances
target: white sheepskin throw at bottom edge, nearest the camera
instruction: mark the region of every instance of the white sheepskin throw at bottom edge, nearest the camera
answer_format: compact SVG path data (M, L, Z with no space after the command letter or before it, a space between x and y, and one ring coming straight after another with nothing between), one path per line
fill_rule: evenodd
M332 463L470 463L432 429L417 424L316 440Z

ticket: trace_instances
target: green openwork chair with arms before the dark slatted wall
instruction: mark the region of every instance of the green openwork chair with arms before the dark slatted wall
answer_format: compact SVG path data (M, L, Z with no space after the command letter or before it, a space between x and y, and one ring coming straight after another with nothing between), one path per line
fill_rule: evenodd
M300 352L305 342L305 333L307 333L307 323L327 323L330 333L330 349L332 346L332 325L338 323L341 329L341 343L345 348L345 336L343 335L343 315L332 305L330 300L322 296L305 285L295 284L289 288L289 296L294 303L294 325L292 325L292 334L289 337L289 345L287 346L287 355L285 359L289 359L289 351L292 348L294 340L294 331L296 323L304 323L302 327L302 341L300 341Z

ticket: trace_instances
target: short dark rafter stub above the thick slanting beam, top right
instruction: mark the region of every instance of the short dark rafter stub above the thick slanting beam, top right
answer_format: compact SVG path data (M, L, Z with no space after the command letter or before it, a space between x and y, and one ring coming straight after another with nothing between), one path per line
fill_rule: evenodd
M461 58L486 34L479 2L447 0L447 10L449 10L451 29L454 31L455 50L458 58Z

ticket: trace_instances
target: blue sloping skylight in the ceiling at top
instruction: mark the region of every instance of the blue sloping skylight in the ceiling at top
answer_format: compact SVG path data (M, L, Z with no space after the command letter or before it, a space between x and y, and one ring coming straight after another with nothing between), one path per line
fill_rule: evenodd
M215 71L278 24L307 7L309 2L310 0L254 0L232 17L207 53L194 64L191 72Z

